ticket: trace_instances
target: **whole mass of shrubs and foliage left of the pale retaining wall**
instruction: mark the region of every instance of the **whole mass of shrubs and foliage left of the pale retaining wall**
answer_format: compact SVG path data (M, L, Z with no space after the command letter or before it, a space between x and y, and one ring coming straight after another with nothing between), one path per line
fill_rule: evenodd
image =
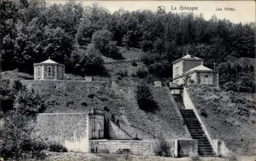
M9 86L7 94L13 94L9 98L13 102L10 109L4 112L4 126L0 132L0 156L10 159L44 159L46 150L65 152L67 149L56 143L47 143L36 135L36 114L45 110L45 102L34 90L28 89L19 81L14 81ZM11 89L10 89L11 88ZM9 97L8 95L6 97Z

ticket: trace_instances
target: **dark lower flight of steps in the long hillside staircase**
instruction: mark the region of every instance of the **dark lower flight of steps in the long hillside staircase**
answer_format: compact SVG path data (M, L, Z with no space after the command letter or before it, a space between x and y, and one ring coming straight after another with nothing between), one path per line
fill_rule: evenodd
M194 111L187 110L187 109L180 109L180 113L185 121L185 124L188 128L191 138L198 140L198 154L201 156L208 156L208 157L216 156Z

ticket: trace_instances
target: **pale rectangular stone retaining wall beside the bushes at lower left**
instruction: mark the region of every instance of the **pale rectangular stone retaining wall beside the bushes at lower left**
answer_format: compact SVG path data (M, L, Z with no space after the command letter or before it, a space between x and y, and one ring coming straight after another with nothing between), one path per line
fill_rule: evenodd
M69 151L89 152L88 113L44 113L37 116L42 138L56 141Z

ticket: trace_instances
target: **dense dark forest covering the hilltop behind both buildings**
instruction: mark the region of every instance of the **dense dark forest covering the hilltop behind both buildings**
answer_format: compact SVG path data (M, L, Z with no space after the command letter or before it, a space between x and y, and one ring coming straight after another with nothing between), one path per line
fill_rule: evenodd
M160 77L172 75L171 62L187 52L205 59L210 68L228 56L255 58L255 23L232 23L216 16L205 20L202 14L123 9L110 13L97 4L4 0L1 28L3 71L32 73L33 63L50 56L65 64L66 72L101 74L102 55L122 59L117 46L142 48L148 71Z

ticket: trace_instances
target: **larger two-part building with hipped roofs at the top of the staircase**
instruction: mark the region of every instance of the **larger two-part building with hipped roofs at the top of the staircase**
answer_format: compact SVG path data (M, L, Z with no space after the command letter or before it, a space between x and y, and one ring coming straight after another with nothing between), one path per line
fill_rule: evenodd
M219 85L219 72L203 65L203 59L187 54L173 62L173 82L178 85Z

